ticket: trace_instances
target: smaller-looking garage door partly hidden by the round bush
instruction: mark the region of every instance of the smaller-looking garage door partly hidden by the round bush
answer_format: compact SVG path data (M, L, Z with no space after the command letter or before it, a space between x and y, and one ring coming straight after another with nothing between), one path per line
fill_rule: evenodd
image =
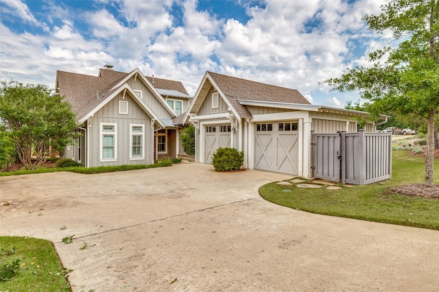
M219 147L230 146L230 125L209 125L204 131L204 162L211 163Z

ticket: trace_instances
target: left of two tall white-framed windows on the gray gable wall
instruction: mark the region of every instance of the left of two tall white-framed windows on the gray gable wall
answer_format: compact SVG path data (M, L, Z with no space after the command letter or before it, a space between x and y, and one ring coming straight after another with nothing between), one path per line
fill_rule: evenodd
M100 161L117 160L117 123L99 123Z

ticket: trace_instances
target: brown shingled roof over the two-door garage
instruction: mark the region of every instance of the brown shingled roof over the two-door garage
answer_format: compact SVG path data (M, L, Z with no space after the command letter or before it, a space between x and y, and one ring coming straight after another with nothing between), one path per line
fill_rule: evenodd
M231 106L240 117L252 117L246 106L239 104L239 100L272 101L287 104L311 104L296 89L254 82L238 77L232 77L206 72L218 89L224 94Z

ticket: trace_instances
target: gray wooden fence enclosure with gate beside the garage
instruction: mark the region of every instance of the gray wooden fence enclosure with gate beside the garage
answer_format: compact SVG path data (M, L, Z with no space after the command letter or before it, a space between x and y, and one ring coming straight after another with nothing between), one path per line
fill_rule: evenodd
M372 184L392 175L390 133L312 133L313 176L342 184Z

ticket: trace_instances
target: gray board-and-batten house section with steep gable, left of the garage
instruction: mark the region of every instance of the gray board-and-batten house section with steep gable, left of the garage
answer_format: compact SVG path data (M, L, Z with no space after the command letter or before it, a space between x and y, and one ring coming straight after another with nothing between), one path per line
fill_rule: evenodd
M154 163L180 152L176 117L191 97L181 82L99 69L97 76L57 71L56 92L77 114L76 143L60 152L85 167Z

